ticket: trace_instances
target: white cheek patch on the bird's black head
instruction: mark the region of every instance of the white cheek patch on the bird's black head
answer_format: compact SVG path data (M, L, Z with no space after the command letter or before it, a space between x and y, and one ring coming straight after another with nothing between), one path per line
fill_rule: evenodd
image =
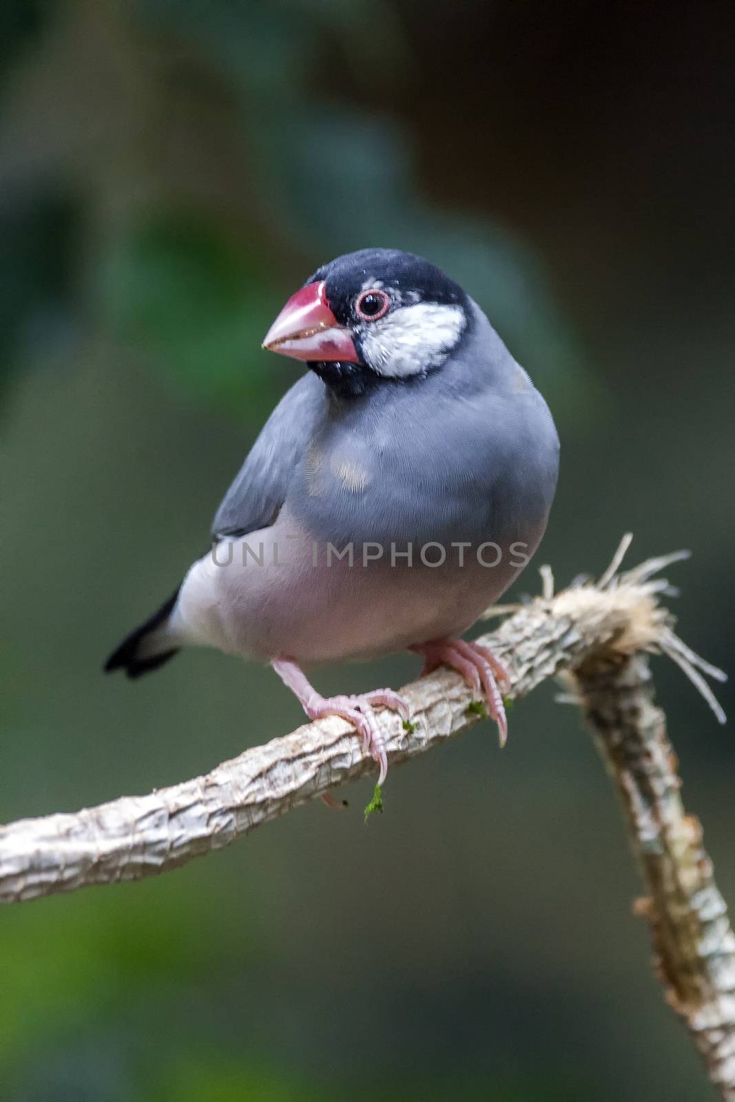
M430 371L446 358L465 326L462 306L419 302L396 306L360 328L363 356L378 375L400 379Z

